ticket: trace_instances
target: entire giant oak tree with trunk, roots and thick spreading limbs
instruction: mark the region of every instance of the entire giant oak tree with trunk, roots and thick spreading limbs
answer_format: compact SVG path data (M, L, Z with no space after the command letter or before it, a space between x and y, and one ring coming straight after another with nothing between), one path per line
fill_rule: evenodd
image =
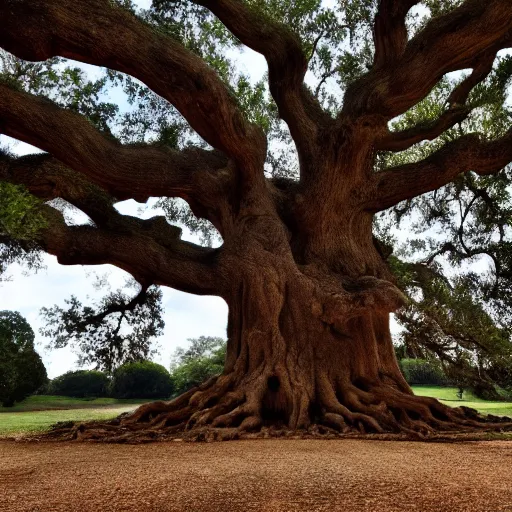
M44 153L3 154L0 180L91 220L70 226L45 203L38 247L64 265L115 265L144 290L217 295L229 306L222 375L82 436L506 426L412 393L389 325L406 299L374 225L380 212L512 162L510 125L494 136L464 125L497 101L475 91L498 71L510 76L497 56L512 47L510 0L160 0L145 14L112 0L0 0L0 19L16 69L56 57L107 68L133 97L149 95L149 114L142 108L131 128L147 130L166 108L179 113L156 139L123 144L90 109L4 76L0 133ZM222 53L241 46L266 59L264 83L234 78ZM493 83L503 103L507 79ZM407 117L440 84L450 88L443 108ZM424 141L442 143L394 157ZM222 245L185 242L162 216L114 208L155 197L184 200Z

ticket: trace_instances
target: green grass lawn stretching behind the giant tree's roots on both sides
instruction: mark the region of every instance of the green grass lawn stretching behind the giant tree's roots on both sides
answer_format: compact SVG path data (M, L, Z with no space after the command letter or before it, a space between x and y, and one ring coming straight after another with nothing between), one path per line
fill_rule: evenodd
M433 396L446 405L465 405L484 414L512 417L512 402L488 402L465 392L457 397L457 388L414 386L420 396ZM47 430L58 421L87 421L115 418L150 400L118 400L115 398L68 398L34 395L14 407L0 407L0 436L13 436Z

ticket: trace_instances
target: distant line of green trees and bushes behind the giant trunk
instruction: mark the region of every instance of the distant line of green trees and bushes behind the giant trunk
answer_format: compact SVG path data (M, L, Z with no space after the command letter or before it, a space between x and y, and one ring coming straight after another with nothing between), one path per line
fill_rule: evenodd
M178 348L172 357L170 371L128 350L117 367L104 371L74 370L53 380L47 378L41 357L34 349L34 332L17 312L0 312L0 403L4 407L33 393L77 398L155 398L169 399L219 375L224 369L226 340L200 336L188 339L188 348ZM147 353L147 352L145 352ZM512 396L510 387L474 379L475 368L465 359L457 366L443 364L436 357L416 357L405 344L395 346L400 369L410 385L457 386L476 395L496 399ZM457 357L457 355L455 355ZM109 371L110 370L110 371ZM510 368L512 372L512 368Z

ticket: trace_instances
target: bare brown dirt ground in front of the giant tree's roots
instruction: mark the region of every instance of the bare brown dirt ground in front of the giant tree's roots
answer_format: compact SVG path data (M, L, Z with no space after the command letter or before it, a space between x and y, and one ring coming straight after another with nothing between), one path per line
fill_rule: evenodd
M0 441L0 510L512 511L512 443Z

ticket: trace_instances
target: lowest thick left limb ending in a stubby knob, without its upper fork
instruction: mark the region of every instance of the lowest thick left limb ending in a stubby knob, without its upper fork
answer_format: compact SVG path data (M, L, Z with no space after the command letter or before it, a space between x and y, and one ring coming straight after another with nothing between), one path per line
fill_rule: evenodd
M62 215L45 206L47 227L39 235L42 249L63 265L111 264L139 282L169 286L197 295L219 295L223 280L217 267L217 249L199 247L179 238L166 238L166 246L154 236L152 223L139 220L131 229L107 230L93 226L67 226ZM122 217L122 216L120 216ZM161 226L160 226L161 227Z

